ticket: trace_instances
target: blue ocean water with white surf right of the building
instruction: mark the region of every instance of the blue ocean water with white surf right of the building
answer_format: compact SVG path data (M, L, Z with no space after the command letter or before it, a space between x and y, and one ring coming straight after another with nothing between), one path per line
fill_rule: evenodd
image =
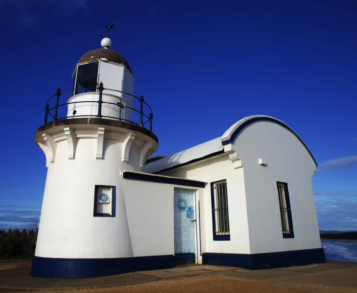
M321 246L327 261L357 263L357 243L321 240Z

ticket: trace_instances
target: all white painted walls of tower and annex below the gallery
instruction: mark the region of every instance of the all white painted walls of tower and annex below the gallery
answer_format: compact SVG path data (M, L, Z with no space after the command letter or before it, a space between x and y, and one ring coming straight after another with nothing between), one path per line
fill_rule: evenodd
M147 148L152 139L127 132L105 127L103 151L98 151L98 125L73 125L72 136L63 127L46 131L47 139L42 133L36 136L48 165L36 256L173 255L174 188L196 190L198 263L200 254L206 252L256 254L321 247L311 183L314 161L296 137L280 125L255 122L237 136L232 144L237 155L231 158L239 162L239 157L242 168L234 168L225 153L164 173L207 182L201 189L122 179L121 170L141 170L143 149L153 152L158 147L152 142ZM103 159L98 159L102 155ZM260 158L267 161L266 166L259 164ZM231 239L214 241L210 183L224 179ZM288 183L295 234L292 239L282 237L276 181ZM116 186L115 218L93 217L95 185Z

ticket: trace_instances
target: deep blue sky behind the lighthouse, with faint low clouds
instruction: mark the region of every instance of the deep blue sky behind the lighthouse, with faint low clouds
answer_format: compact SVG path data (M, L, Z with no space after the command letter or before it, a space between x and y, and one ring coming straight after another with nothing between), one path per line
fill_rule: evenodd
M357 2L1 0L0 228L36 227L46 168L33 141L45 101L100 47L129 62L154 111L156 154L275 116L319 167L319 227L357 230Z

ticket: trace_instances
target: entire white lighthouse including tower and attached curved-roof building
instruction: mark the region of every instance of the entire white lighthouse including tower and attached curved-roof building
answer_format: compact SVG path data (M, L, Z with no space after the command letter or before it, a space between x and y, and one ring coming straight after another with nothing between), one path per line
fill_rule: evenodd
M73 91L47 101L35 134L48 171L32 276L325 262L317 164L284 122L249 116L222 137L149 157L158 149L152 112L133 96L126 60L92 50L72 77Z

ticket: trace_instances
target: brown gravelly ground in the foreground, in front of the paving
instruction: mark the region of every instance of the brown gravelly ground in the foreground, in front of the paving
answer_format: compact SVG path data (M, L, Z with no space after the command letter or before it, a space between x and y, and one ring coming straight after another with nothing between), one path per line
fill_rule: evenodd
M40 290L39 292L53 293L54 290ZM193 275L185 277L175 277L160 279L157 281L125 285L120 287L88 288L88 289L66 289L56 290L56 292L145 292L145 293L188 293L188 292L357 292L357 288L337 287L325 285L299 284L274 281L257 281L248 279L238 279L219 275Z

